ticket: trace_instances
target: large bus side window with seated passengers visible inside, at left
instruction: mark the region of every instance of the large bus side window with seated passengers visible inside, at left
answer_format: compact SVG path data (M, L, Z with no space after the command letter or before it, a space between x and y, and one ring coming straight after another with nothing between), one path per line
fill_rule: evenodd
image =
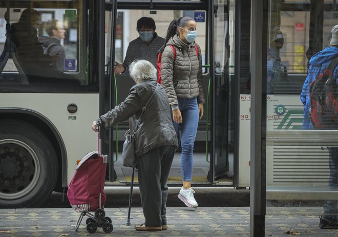
M86 76L82 1L35 2L9 1L9 9L0 8L1 88L28 92L97 88Z

